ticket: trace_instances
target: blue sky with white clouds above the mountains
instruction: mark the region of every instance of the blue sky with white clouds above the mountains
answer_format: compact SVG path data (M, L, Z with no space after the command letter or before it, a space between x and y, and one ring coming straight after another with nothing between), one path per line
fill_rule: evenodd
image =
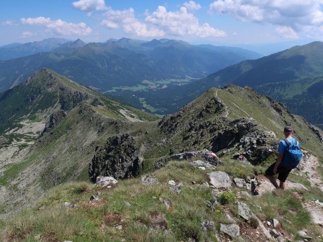
M50 37L127 37L285 48L322 41L322 11L323 0L3 0L0 46Z

